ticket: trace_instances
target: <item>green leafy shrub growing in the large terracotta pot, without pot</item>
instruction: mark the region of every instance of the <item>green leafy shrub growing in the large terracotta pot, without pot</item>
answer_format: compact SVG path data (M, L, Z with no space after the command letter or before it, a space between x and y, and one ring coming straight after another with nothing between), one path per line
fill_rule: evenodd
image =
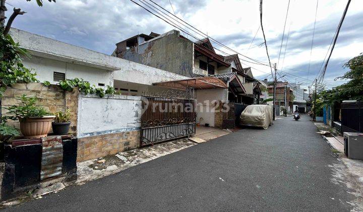
M47 112L43 107L35 105L37 102L37 97L27 97L27 95L23 94L16 99L20 100L19 105L12 105L9 108L6 108L9 112L6 119L11 120L21 120L29 117L42 117L51 115Z

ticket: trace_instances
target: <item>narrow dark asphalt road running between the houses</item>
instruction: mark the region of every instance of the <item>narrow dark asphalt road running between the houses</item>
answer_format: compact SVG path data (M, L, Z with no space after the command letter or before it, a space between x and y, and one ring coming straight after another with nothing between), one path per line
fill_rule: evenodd
M307 116L287 117L8 210L349 210L343 167Z

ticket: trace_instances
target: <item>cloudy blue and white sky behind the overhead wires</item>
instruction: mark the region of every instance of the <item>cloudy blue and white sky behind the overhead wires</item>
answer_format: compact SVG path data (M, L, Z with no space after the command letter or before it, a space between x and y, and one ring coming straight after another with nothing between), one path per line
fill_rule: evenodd
M134 1L143 5L140 0ZM174 10L176 16L240 54L259 61L268 61L266 49L261 45L263 35L259 29L258 0L170 0L172 8L169 0L153 1L170 12ZM56 3L43 0L42 8L36 5L35 0L7 2L9 11L14 6L27 12L24 16L17 17L13 27L108 55L114 50L116 42L135 34L148 34L151 31L164 33L175 29L129 0L56 0ZM296 80L304 87L310 85L317 76L346 1L319 1L311 55L316 4L316 0L290 0L280 59L288 0L265 0L263 4L263 24L271 63L277 63L278 69L287 73L284 79L291 82ZM334 78L347 71L342 67L345 62L363 52L362 32L363 1L352 0L325 75L324 83L328 87L343 83L334 81ZM191 33L199 39L202 38L195 32ZM255 34L256 38L251 44ZM194 40L190 35L184 35ZM234 53L218 44L212 44L227 54ZM243 63L244 68L253 68L256 78L271 78L269 67L244 61Z

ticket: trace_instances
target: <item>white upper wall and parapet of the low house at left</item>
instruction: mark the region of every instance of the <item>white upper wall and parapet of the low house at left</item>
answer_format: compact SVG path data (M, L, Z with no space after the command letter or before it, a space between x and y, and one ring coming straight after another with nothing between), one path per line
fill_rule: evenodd
M11 29L11 35L32 56L25 60L28 68L38 73L40 81L53 82L53 70L66 73L66 78L83 78L91 84L113 85L113 80L145 85L188 77L102 54L79 46Z

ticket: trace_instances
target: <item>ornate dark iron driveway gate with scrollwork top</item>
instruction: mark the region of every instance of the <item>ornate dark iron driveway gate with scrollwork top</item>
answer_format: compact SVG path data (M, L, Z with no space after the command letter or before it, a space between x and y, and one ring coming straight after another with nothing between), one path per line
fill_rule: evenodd
M142 95L141 146L189 137L196 130L194 90Z

